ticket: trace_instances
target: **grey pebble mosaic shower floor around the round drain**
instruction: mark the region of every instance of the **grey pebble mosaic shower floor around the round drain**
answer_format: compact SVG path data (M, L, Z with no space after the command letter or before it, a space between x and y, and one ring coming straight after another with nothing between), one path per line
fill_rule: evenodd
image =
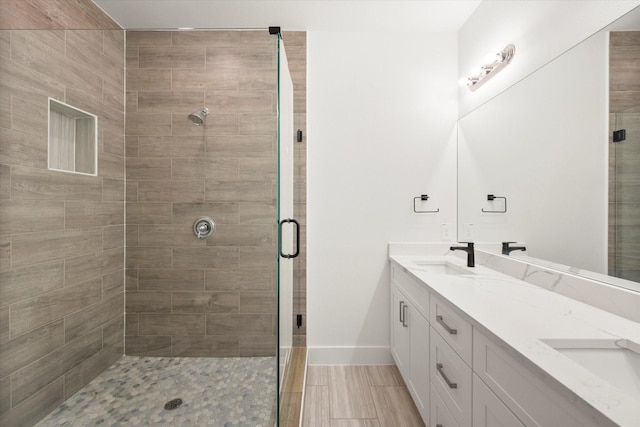
M273 357L124 356L37 427L272 427L275 371Z

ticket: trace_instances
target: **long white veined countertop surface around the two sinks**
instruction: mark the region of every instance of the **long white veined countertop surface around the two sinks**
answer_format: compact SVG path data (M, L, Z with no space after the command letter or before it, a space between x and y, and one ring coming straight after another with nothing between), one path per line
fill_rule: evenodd
M433 275L415 262L455 256L397 256L389 259L427 283L466 314L474 327L507 344L552 380L621 426L640 426L640 399L626 393L554 350L541 339L626 339L640 343L640 323L507 276L484 266L464 277Z

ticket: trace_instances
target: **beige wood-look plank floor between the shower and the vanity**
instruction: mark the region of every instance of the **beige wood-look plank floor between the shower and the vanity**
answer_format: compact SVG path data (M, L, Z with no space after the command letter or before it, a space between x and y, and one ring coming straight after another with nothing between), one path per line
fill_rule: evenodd
M424 427L394 365L309 366L304 427Z

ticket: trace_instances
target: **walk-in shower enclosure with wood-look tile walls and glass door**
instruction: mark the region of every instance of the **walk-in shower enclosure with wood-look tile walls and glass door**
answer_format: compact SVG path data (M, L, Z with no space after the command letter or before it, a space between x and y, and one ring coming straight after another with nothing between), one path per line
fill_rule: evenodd
M95 379L120 384L105 416L165 382L170 394L135 416L173 402L172 417L208 407L218 425L204 392L251 395L255 360L273 425L299 231L281 38L125 32L91 2L73 7L50 15L62 22L12 11L15 29L0 31L0 424L34 425L74 395L86 404ZM97 118L95 174L48 167L50 98ZM208 238L194 232L202 217ZM176 403L180 371L203 381L203 401ZM244 403L231 425L255 424Z

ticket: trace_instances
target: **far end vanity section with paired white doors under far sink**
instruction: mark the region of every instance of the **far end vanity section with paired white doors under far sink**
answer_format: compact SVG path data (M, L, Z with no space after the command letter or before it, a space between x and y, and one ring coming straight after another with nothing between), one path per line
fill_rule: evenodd
M397 266L391 268L391 354L425 420L429 414L429 293ZM426 297L426 300L425 300Z

